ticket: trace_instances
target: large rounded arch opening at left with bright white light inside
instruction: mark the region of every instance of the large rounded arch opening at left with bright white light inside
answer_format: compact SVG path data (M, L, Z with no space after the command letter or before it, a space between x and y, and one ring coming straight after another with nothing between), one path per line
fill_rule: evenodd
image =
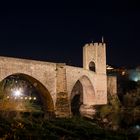
M54 115L49 91L37 79L22 73L7 76L0 82L0 112L7 117Z

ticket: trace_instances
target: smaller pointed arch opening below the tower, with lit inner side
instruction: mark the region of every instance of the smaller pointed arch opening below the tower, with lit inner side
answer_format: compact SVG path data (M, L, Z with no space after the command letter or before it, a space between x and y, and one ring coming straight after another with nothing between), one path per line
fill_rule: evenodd
M95 104L95 91L90 79L83 75L73 86L71 92L71 112L72 115L86 116L85 112L89 108L84 109L84 106L93 106ZM83 115L84 114L84 115Z

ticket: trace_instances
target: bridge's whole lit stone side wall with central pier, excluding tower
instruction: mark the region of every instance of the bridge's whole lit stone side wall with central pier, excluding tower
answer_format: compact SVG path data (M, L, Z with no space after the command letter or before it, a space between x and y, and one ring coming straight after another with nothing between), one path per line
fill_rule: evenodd
M75 83L83 76L91 82L95 99L93 105L105 104L107 100L106 74L87 69L34 60L0 57L0 81L12 74L27 74L42 83L49 91L57 117L70 116L70 97ZM83 86L84 81L81 81ZM87 84L88 85L88 84ZM111 86L111 85L110 85ZM90 89L91 86L89 86ZM88 90L88 86L84 89ZM84 90L84 96L90 93ZM89 97L86 97L88 103ZM85 102L85 101L84 101ZM90 101L90 104L92 102Z

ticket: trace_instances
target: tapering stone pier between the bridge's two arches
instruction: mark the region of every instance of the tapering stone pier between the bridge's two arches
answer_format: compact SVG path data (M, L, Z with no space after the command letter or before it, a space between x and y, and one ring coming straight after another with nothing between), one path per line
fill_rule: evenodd
M56 106L55 113L57 117L69 117L70 116L70 104L67 92L67 80L66 80L66 67L65 64L57 64L57 87L56 87Z

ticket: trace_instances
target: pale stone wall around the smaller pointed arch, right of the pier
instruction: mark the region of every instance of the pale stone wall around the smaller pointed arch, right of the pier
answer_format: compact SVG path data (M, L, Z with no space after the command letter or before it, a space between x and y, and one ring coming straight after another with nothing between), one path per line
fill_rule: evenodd
M93 104L100 105L107 103L107 77L105 74L97 74L83 68L66 66L66 75L69 99L71 98L71 91L75 83L80 80L82 76L86 76L90 80L95 92Z

